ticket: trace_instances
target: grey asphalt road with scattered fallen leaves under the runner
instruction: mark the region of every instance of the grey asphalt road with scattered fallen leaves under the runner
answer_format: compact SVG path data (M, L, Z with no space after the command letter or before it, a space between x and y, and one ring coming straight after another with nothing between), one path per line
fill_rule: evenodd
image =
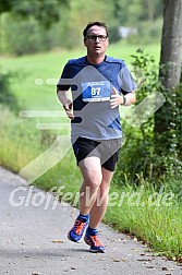
M107 252L90 253L66 238L76 208L2 168L0 179L0 275L182 275L182 266L104 224Z

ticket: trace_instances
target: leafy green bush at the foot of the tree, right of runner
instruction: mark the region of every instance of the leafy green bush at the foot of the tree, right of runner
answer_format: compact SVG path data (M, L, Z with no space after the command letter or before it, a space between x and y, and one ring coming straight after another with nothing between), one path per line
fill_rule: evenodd
M173 93L166 93L158 80L158 68L154 58L141 49L133 56L133 68L136 79L141 77L143 81L137 89L137 104L151 92L159 91L166 97L166 104L173 110L169 113L165 111L162 116L169 116L169 125L171 123L174 127L156 135L154 116L134 130L124 122L123 131L128 140L121 150L114 177L122 181L126 178L131 182L148 180L154 184L161 184L166 178L179 182L182 176L182 88L179 86ZM174 95L177 100L172 99ZM135 119L137 112L133 117ZM175 187L180 191L179 183Z

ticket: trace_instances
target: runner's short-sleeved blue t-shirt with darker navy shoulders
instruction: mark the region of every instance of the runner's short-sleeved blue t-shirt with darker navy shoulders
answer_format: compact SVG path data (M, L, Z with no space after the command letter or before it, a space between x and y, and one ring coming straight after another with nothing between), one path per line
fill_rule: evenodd
M119 107L110 107L112 87L124 95L136 88L123 60L107 56L99 64L88 63L86 57L69 60L57 87L72 91L73 141L78 136L96 141L122 136Z

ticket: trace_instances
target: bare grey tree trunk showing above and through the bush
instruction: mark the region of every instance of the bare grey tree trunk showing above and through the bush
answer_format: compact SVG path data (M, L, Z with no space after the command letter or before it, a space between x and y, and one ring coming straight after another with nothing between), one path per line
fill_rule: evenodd
M168 93L180 83L182 56L182 0L163 0L159 79ZM170 104L155 113L155 133L169 130L172 119Z

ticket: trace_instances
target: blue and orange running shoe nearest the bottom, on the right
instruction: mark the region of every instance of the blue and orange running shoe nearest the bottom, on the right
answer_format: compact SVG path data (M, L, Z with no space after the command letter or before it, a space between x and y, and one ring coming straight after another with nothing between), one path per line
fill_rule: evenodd
M90 247L89 251L94 253L105 253L106 249L101 244L98 235L85 235L84 241Z

